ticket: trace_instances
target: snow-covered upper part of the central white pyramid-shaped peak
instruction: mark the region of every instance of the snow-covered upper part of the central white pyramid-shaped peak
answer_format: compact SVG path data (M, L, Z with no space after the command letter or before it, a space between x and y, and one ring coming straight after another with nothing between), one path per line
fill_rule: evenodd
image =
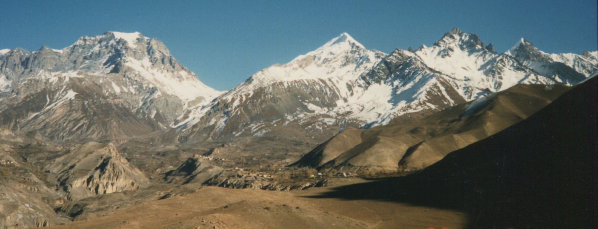
M299 90L298 88L314 84L322 86L322 90L331 91L325 93L334 94L329 99L346 98L353 93L352 82L385 56L380 51L366 49L348 33L341 33L316 50L295 57L289 63L273 65L255 73L223 94L220 99L236 100L233 103L236 106L240 104L238 101L247 100L246 97L251 97L255 91L271 91L273 87Z

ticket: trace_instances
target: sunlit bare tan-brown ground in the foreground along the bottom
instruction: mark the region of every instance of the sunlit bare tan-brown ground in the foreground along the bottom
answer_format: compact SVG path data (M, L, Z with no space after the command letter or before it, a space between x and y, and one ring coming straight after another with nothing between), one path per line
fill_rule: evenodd
M361 178L328 187L265 191L203 187L195 193L150 201L106 215L50 228L465 228L455 210L385 200L315 198Z

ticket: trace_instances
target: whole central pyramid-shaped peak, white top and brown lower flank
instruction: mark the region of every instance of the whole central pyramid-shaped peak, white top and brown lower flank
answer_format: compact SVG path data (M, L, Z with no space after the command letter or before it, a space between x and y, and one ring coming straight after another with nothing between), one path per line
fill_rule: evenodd
M385 56L341 33L289 63L255 73L210 105L183 115L181 130L185 135L206 130L210 133L203 136L221 139L233 133L242 135L245 129L251 129L245 126L247 123L317 121L315 116L330 115L329 111L362 90L356 88L355 81ZM205 127L211 125L211 129Z

